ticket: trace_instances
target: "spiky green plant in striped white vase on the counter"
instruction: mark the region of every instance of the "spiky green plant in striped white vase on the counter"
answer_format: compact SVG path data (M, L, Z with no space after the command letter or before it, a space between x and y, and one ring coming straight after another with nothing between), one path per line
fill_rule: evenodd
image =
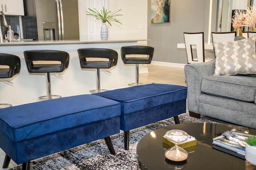
M118 10L117 12L119 12L120 10ZM96 20L100 20L102 21L102 27L100 29L100 36L101 36L101 40L108 40L108 27L106 26L106 22L108 22L108 24L111 25L110 22L117 22L119 24L122 24L120 21L118 21L115 17L116 16L122 16L122 14L116 14L117 12L111 12L111 11L107 11L107 9L105 9L103 7L103 10L100 10L100 12L98 10L96 10L94 8L94 10L88 8L88 11L86 11L86 15L90 16L90 17L94 17L96 18Z

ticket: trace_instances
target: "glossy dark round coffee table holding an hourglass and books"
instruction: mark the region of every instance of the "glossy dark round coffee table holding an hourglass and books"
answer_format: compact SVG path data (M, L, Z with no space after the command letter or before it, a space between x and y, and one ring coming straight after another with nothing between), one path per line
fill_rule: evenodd
M162 137L172 129L184 130L197 140L187 160L181 162L180 165L174 165L175 162L169 162L164 156L164 152L170 146L163 143ZM138 142L136 151L138 164L142 170L172 170L175 168L182 168L182 170L245 170L250 168L250 170L256 170L256 166L246 160L212 148L212 138L232 129L240 133L247 131L250 134L256 134L256 129L214 123L184 123L156 129Z

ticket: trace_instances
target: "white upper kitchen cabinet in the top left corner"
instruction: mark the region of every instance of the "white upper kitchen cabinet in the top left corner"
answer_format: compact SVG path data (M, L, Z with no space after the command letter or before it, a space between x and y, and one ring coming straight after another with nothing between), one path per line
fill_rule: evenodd
M0 0L0 10L6 16L24 16L23 0Z

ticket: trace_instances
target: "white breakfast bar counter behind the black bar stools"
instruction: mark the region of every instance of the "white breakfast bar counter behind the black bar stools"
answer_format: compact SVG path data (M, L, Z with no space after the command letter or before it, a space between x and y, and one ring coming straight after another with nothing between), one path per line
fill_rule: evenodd
M135 65L124 65L122 62L120 48L126 45L137 45L138 41L148 40L66 40L66 41L28 41L28 42L4 42L0 43L1 53L10 53L20 57L20 73L8 81L14 84L3 83L0 79L0 103L21 105L38 101L38 97L46 95L46 78L44 73L28 73L23 52L32 49L53 49L66 51L70 55L68 69L58 73L64 78L51 74L52 95L62 97L89 94L89 91L96 89L96 69L81 69L77 49L94 47L109 48L118 52L118 63L116 66L104 72L101 69L101 89L118 89L127 87L128 83L135 81Z

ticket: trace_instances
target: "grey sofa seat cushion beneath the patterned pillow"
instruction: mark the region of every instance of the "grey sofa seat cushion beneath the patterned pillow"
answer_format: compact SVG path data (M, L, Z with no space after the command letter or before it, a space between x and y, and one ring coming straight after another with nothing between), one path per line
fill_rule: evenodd
M256 77L246 75L205 76L201 91L215 96L254 102Z

